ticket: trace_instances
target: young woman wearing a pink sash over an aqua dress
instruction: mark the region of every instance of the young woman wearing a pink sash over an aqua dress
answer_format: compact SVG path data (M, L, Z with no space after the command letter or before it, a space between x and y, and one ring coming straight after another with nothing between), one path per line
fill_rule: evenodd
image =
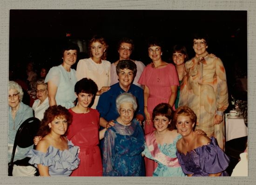
M168 103L155 106L152 119L155 131L145 136L145 150L142 155L157 163L155 177L183 177L185 174L176 156L176 142L182 138L171 123L173 110ZM146 169L147 170L147 169Z

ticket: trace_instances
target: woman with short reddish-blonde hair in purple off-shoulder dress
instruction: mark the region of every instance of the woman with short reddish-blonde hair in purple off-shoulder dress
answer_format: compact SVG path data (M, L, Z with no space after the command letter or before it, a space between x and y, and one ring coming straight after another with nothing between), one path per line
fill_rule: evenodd
M177 158L182 171L188 176L229 176L225 171L229 157L218 146L216 139L195 134L196 115L187 106L179 107L174 113L182 139L177 141Z

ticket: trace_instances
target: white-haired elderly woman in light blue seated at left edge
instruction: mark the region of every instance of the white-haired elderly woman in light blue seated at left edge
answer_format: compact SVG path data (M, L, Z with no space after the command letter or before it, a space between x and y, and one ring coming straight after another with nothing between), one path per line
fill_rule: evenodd
M33 117L33 110L31 107L23 104L23 91L21 86L14 82L9 81L9 125L8 125L8 161L10 162L12 155L12 146L14 144L14 139L16 136L16 132L18 131L20 125L28 118ZM20 160L25 158L25 153L32 148L29 146L27 148L20 148L17 146L14 160Z

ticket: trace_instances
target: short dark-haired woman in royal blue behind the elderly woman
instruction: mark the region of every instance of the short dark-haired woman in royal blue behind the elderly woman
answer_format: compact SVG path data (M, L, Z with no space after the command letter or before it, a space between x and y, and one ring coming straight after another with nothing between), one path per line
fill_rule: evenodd
M144 99L143 90L132 84L136 73L136 64L131 60L120 60L116 66L116 73L119 78L119 83L111 86L110 90L103 93L99 99L96 109L100 112L100 126L106 127L109 121L116 119L119 114L115 106L115 100L121 93L131 93L138 102L138 108L135 112L135 118L141 123L144 119Z

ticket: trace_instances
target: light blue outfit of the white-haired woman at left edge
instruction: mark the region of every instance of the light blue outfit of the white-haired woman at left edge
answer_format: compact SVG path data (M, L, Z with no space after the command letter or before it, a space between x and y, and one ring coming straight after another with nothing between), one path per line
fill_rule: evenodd
M24 103L20 102L19 110L16 112L15 120L12 117L12 108L9 106L9 119L8 119L8 145L14 144L14 139L20 125L28 118L33 117L33 109ZM17 146L13 161L25 158L25 153L29 149L33 148L33 145L27 148L20 148ZM10 162L12 156L12 147L8 151L8 162Z

